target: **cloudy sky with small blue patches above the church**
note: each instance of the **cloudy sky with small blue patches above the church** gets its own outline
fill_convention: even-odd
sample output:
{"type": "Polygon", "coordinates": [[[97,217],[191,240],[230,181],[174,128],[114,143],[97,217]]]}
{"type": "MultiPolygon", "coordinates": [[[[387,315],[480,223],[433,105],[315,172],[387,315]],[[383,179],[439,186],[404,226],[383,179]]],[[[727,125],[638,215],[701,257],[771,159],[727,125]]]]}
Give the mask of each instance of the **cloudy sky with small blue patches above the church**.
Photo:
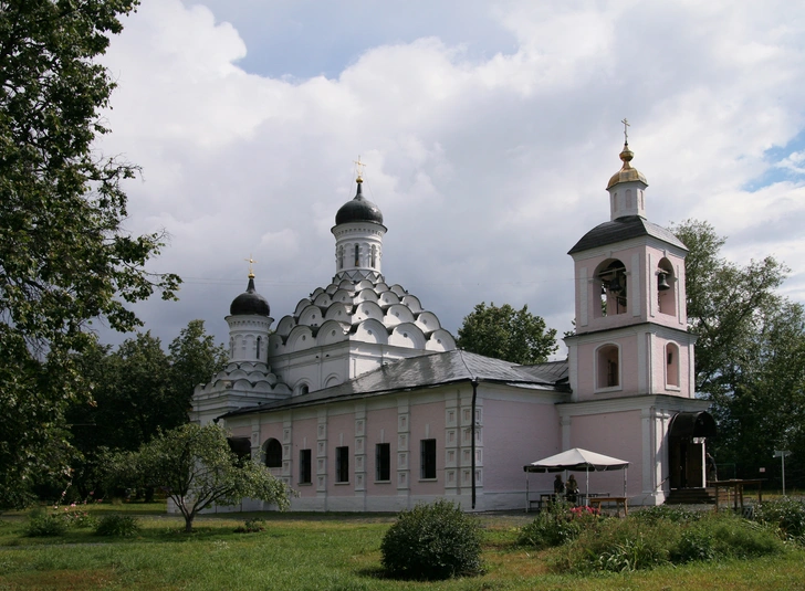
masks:
{"type": "Polygon", "coordinates": [[[135,307],[165,345],[228,341],[250,256],[274,326],[326,287],[358,157],[389,285],[453,334],[485,302],[561,335],[624,118],[648,219],[777,257],[805,303],[805,3],[143,0],[124,27],[96,148],[142,167],[125,230],[168,233],[148,270],[180,299],[135,307]]]}

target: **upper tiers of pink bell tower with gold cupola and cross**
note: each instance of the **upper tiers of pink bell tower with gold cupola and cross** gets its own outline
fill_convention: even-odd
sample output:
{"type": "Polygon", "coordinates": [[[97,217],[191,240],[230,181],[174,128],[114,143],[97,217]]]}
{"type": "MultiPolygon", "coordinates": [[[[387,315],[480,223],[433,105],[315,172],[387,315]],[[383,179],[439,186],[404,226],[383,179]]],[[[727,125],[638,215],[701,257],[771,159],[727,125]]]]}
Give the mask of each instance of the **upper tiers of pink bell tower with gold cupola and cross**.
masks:
{"type": "Polygon", "coordinates": [[[607,183],[610,219],[568,253],[576,279],[576,334],[566,339],[575,401],[693,397],[696,337],[687,331],[684,296],[688,250],[646,219],[648,182],[631,166],[634,157],[626,136],[621,168],[607,183]]]}

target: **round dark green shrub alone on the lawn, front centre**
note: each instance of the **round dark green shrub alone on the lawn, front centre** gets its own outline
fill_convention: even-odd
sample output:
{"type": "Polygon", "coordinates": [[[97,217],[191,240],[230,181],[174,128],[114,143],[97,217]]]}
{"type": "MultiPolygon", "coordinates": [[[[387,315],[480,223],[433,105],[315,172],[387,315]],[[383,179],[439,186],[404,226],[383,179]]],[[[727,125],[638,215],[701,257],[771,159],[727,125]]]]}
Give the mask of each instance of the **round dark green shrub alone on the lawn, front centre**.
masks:
{"type": "Polygon", "coordinates": [[[402,579],[481,572],[481,530],[461,507],[440,499],[399,514],[380,543],[383,568],[402,579]]]}

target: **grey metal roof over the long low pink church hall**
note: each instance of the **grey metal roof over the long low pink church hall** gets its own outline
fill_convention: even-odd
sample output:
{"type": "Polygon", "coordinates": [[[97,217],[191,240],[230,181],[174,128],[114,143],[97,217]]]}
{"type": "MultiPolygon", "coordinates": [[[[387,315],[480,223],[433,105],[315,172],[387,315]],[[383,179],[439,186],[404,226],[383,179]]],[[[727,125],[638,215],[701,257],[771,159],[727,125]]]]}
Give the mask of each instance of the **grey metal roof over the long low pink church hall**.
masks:
{"type": "Polygon", "coordinates": [[[224,416],[271,412],[291,407],[433,388],[472,379],[565,392],[569,391],[563,379],[566,373],[566,361],[544,363],[543,366],[518,366],[510,361],[501,361],[500,359],[456,349],[448,352],[400,359],[332,388],[268,402],[259,407],[240,409],[224,416]]]}

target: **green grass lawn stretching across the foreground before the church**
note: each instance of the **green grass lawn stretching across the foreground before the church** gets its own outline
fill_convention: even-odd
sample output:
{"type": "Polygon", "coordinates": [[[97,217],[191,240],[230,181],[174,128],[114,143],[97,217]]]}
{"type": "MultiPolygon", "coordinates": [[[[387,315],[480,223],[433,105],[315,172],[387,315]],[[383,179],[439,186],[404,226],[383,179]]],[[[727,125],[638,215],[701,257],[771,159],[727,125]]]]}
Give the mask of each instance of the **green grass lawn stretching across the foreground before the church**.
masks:
{"type": "MultiPolygon", "coordinates": [[[[383,578],[380,540],[394,515],[239,514],[202,516],[196,532],[164,506],[93,506],[101,515],[137,515],[133,538],[101,538],[71,529],[56,538],[22,536],[24,515],[0,519],[0,590],[805,590],[805,551],[773,558],[662,567],[629,574],[569,576],[550,571],[551,552],[514,546],[533,516],[481,516],[482,577],[443,582],[383,578]],[[236,534],[259,515],[265,530],[236,534]]],[[[100,516],[100,515],[98,515],[100,516]]]]}

